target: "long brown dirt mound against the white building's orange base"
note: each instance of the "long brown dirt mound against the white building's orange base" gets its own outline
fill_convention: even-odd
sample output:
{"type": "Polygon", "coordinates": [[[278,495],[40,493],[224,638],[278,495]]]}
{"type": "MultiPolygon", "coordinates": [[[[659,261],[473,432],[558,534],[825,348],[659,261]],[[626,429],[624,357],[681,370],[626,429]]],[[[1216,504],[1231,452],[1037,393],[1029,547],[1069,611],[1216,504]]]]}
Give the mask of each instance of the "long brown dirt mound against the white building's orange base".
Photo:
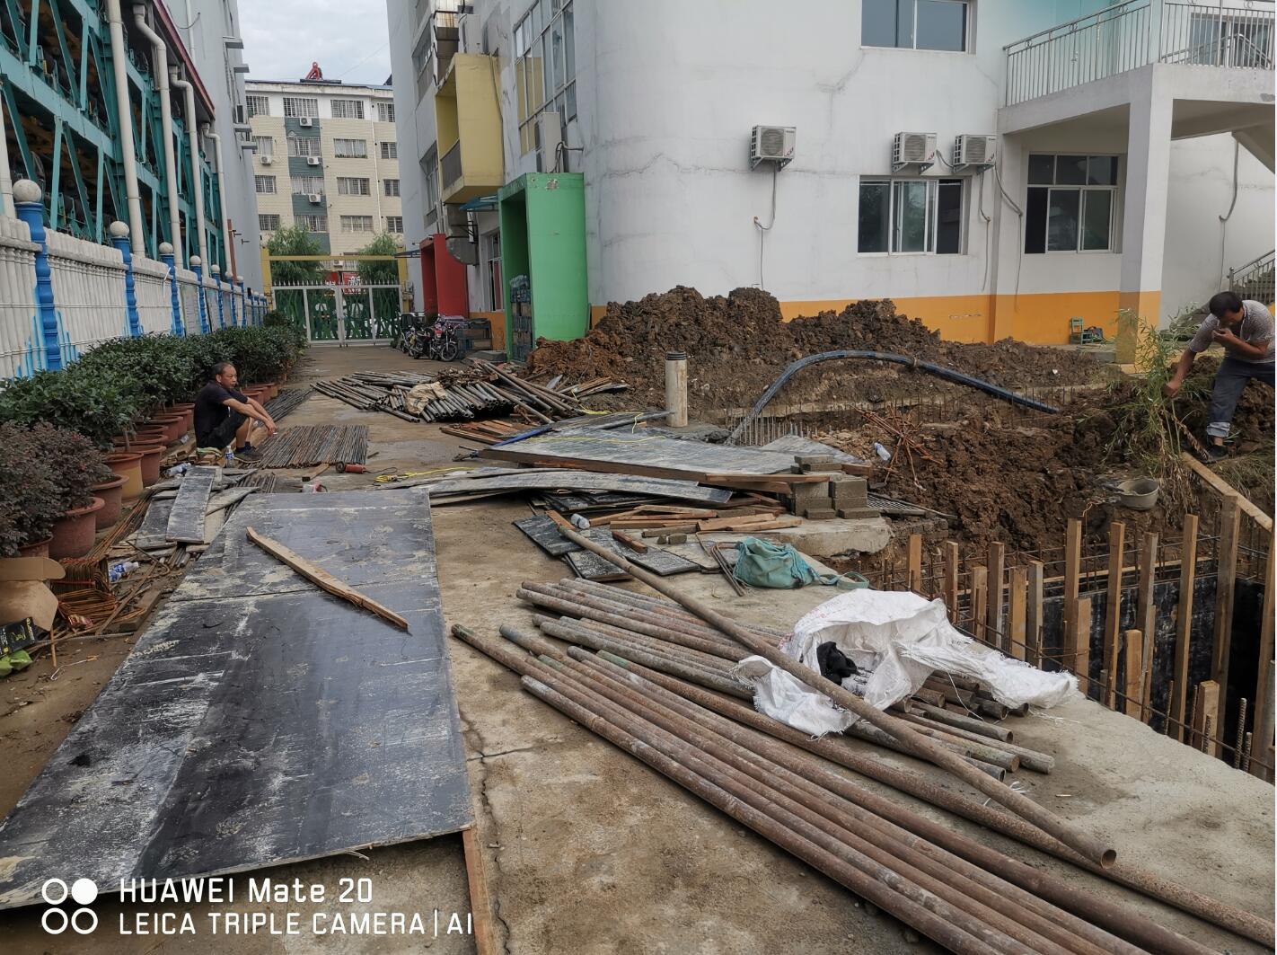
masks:
{"type": "MultiPolygon", "coordinates": [[[[632,386],[628,406],[659,406],[665,352],[686,351],[691,410],[709,416],[752,405],[794,359],[839,349],[908,355],[1016,387],[1082,384],[1098,370],[1092,357],[1073,351],[1011,340],[995,345],[942,341],[919,320],[898,314],[890,299],[866,299],[842,312],[784,322],[775,297],[757,289],[706,299],[684,286],[609,304],[584,338],[540,340],[529,368],[568,380],[619,378],[632,386]]],[[[830,364],[801,373],[778,400],[879,400],[954,387],[896,365],[830,364]]]]}

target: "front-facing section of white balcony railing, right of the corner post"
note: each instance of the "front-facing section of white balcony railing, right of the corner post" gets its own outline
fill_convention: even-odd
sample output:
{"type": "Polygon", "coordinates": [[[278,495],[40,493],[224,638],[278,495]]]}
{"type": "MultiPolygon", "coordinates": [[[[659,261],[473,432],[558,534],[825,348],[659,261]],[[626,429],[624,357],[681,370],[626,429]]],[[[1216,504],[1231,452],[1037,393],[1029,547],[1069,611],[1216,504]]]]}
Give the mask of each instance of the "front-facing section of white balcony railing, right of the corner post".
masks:
{"type": "Polygon", "coordinates": [[[1273,68],[1273,4],[1163,3],[1161,63],[1235,69],[1273,68]]]}

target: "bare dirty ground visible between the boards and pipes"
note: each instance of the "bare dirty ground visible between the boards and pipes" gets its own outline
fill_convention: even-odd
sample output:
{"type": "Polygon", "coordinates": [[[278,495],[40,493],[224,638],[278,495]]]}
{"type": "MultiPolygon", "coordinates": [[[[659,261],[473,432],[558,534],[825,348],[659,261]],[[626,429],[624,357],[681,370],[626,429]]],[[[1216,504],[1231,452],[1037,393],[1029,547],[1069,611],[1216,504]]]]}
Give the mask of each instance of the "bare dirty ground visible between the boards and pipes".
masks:
{"type": "MultiPolygon", "coordinates": [[[[424,365],[386,349],[317,349],[298,379],[356,368],[424,365]]],[[[312,397],[283,424],[324,421],[369,424],[370,444],[378,452],[369,462],[374,469],[453,466],[457,444],[437,426],[355,411],[329,398],[312,397]]],[[[321,480],[335,490],[373,483],[372,475],[328,474],[321,480]]],[[[557,580],[566,568],[511,526],[527,513],[525,503],[502,499],[434,511],[448,627],[462,623],[489,633],[502,623],[530,628],[530,610],[515,600],[515,590],[524,580],[557,580]]],[[[827,596],[807,589],[738,599],[716,576],[684,575],[679,583],[728,613],[779,626],[827,596]]],[[[478,843],[504,951],[894,955],[936,950],[928,942],[907,942],[893,918],[871,913],[840,886],[524,693],[517,677],[502,666],[457,641],[450,640],[448,649],[469,752],[478,843]]],[[[13,806],[125,650],[123,641],[83,645],[63,660],[56,681],[49,681],[49,661],[41,659],[20,677],[0,683],[0,739],[10,757],[10,771],[0,774],[0,811],[13,806]],[[98,659],[92,663],[66,666],[93,655],[98,659]],[[28,697],[31,705],[19,706],[28,697]]],[[[1019,774],[1034,799],[1108,835],[1120,858],[1272,918],[1272,786],[1092,702],[1077,701],[1016,720],[1014,729],[1016,742],[1057,758],[1050,776],[1019,774]]],[[[904,757],[882,758],[931,772],[904,757]]],[[[913,804],[899,794],[893,798],[913,804]]],[[[967,823],[954,825],[976,831],[967,823]]],[[[981,838],[1119,898],[1205,945],[1262,951],[1001,838],[981,838]]],[[[364,855],[289,866],[277,875],[328,886],[344,876],[368,876],[374,880],[375,908],[469,909],[458,839],[364,855]]],[[[106,926],[78,947],[66,936],[51,944],[34,910],[0,913],[0,950],[112,955],[207,950],[203,937],[117,937],[115,917],[129,914],[129,906],[98,905],[98,910],[106,926]]],[[[245,955],[423,946],[472,951],[467,938],[444,936],[427,942],[244,936],[222,940],[218,950],[245,955]]]]}

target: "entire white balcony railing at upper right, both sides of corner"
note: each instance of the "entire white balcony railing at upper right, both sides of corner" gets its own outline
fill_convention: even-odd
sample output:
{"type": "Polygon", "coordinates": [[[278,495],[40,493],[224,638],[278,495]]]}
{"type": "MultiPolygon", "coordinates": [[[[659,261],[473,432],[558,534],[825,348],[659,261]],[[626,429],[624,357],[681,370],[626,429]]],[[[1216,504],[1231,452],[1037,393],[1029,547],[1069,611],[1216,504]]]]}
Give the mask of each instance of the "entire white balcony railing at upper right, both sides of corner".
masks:
{"type": "Polygon", "coordinates": [[[1004,47],[1006,105],[1158,63],[1273,69],[1273,3],[1128,0],[1004,47]],[[1156,36],[1154,36],[1156,32],[1156,36]],[[1156,45],[1154,45],[1156,41],[1156,45]]]}

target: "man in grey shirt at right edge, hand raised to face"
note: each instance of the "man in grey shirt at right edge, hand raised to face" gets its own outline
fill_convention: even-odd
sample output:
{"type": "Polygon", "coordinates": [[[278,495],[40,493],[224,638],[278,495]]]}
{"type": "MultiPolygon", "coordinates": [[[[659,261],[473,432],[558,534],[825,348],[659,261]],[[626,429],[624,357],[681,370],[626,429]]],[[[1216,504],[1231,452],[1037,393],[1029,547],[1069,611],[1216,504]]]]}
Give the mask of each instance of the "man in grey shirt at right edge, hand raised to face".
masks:
{"type": "Polygon", "coordinates": [[[1180,356],[1171,380],[1165,392],[1174,397],[1193,368],[1193,360],[1218,342],[1227,352],[1214,373],[1214,389],[1211,392],[1211,411],[1207,416],[1205,433],[1211,437],[1207,457],[1211,461],[1223,458],[1228,452],[1223,439],[1228,437],[1232,412],[1237,409],[1241,392],[1254,379],[1269,388],[1273,387],[1273,317],[1258,301],[1243,301],[1236,292],[1220,292],[1211,299],[1211,314],[1198,328],[1193,341],[1180,356]]]}

